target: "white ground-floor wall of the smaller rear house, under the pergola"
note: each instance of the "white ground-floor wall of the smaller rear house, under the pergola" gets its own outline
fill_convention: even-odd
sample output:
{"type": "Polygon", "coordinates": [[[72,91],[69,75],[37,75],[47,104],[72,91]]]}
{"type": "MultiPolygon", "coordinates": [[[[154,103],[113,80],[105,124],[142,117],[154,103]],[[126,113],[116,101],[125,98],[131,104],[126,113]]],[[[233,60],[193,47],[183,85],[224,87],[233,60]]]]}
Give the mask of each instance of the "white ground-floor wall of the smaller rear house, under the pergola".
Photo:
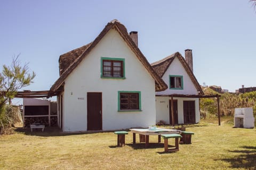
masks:
{"type": "MultiPolygon", "coordinates": [[[[170,124],[170,109],[169,109],[169,100],[170,97],[156,97],[156,122],[161,120],[170,124]]],[[[196,123],[200,120],[200,112],[199,112],[199,99],[198,98],[177,98],[174,97],[173,100],[178,100],[178,123],[184,123],[183,117],[183,101],[194,100],[195,101],[195,118],[196,123]]]]}

